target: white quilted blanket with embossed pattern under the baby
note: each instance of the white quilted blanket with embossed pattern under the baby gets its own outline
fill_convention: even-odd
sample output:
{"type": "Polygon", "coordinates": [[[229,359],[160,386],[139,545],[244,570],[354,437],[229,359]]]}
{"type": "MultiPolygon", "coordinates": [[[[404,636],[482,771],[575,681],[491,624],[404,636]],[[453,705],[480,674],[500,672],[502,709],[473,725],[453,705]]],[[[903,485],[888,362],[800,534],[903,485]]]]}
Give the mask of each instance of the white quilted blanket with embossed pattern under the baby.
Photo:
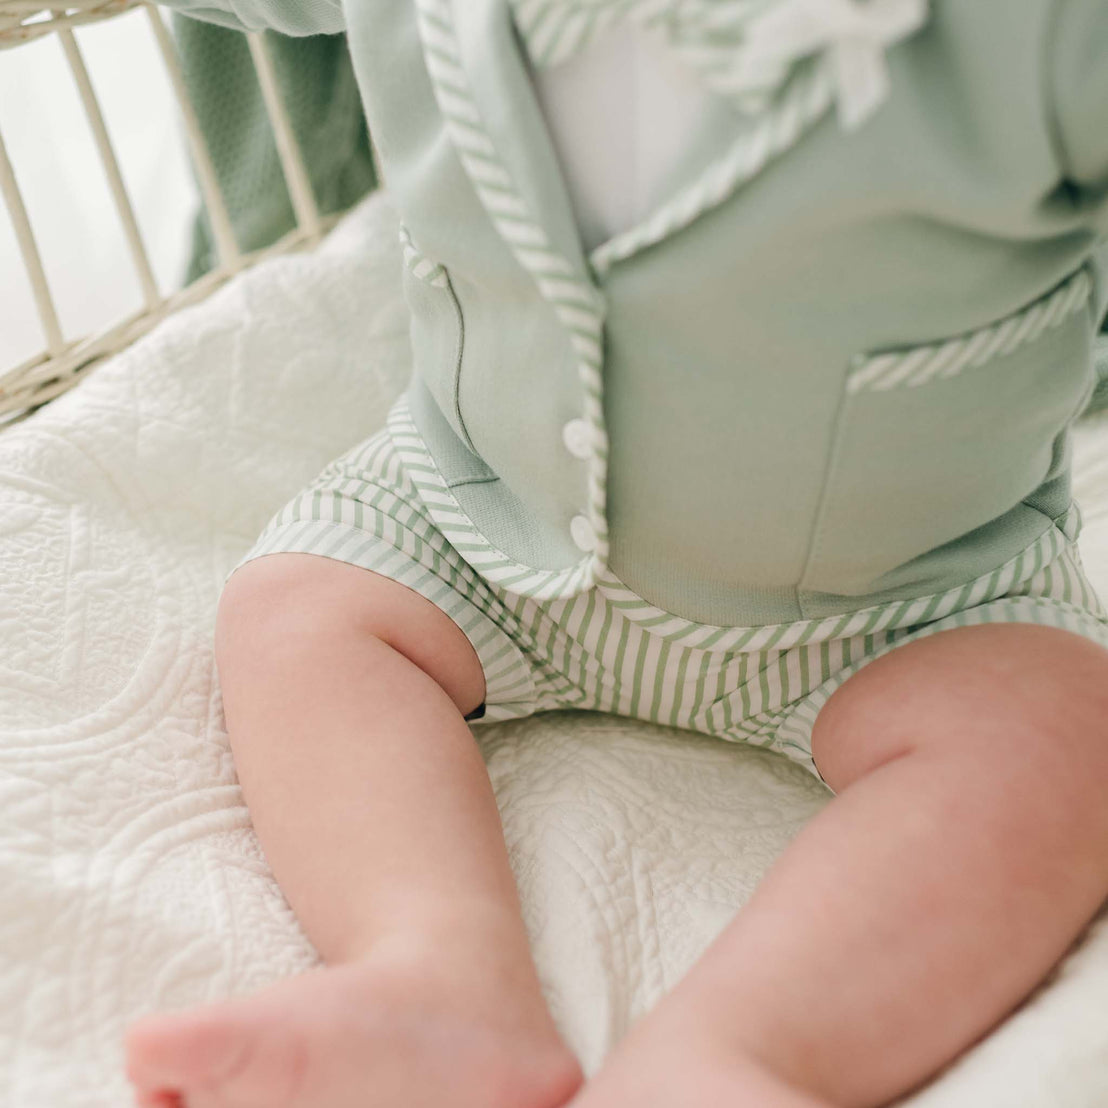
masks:
{"type": "MultiPolygon", "coordinates": [[[[123,1108],[140,1013],[312,963],[243,807],[212,657],[269,514],[406,376],[394,218],[363,204],[0,433],[0,1105],[123,1108]]],[[[1108,593],[1108,423],[1079,437],[1108,593]]],[[[773,755],[584,714],[482,732],[551,1003],[586,1067],[825,796],[773,755]]],[[[915,1108],[1108,1104],[1108,933],[915,1108]]]]}

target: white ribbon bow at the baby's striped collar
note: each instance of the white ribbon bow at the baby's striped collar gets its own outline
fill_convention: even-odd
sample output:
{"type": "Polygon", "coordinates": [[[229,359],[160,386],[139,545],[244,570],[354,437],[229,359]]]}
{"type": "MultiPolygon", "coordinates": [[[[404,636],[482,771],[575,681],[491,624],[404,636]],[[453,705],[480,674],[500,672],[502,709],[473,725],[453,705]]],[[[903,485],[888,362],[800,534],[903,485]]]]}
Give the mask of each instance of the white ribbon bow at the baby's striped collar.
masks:
{"type": "Polygon", "coordinates": [[[743,61],[767,74],[823,53],[839,121],[864,123],[889,94],[885,48],[927,22],[929,0],[781,0],[747,25],[743,61]]]}

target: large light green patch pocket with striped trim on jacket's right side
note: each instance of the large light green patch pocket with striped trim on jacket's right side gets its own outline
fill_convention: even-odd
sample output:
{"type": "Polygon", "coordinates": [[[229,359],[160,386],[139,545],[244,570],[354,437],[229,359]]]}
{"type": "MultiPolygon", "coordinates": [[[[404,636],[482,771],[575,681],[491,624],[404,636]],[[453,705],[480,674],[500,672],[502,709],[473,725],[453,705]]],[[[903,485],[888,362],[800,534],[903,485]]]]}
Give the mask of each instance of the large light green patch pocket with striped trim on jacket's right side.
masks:
{"type": "Polygon", "coordinates": [[[1033,495],[1091,387],[1091,295],[1081,269],[970,334],[854,359],[802,592],[875,592],[1033,495]]]}

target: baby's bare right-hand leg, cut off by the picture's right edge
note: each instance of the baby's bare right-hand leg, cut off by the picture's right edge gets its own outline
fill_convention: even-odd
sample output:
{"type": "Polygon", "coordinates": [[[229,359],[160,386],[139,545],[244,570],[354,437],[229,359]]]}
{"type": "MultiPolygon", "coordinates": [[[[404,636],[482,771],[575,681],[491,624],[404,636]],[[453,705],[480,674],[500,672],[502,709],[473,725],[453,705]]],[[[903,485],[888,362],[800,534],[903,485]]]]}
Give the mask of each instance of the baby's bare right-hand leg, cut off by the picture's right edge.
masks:
{"type": "Polygon", "coordinates": [[[817,722],[839,793],[574,1108],[884,1105],[985,1034],[1108,894],[1108,652],[944,632],[817,722]]]}

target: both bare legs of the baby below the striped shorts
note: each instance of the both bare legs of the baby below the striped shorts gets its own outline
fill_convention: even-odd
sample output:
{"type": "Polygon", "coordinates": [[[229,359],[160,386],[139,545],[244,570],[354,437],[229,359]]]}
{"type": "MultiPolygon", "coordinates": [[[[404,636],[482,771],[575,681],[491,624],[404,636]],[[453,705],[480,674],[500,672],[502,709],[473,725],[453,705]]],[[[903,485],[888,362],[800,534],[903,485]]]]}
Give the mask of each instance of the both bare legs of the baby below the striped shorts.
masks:
{"type": "Polygon", "coordinates": [[[228,583],[217,656],[255,827],[327,968],[132,1028],[143,1108],[876,1108],[1108,894],[1108,652],[1025,625],[920,639],[831,698],[813,750],[838,797],[582,1085],[462,718],[484,679],[461,630],[275,554],[228,583]]]}

